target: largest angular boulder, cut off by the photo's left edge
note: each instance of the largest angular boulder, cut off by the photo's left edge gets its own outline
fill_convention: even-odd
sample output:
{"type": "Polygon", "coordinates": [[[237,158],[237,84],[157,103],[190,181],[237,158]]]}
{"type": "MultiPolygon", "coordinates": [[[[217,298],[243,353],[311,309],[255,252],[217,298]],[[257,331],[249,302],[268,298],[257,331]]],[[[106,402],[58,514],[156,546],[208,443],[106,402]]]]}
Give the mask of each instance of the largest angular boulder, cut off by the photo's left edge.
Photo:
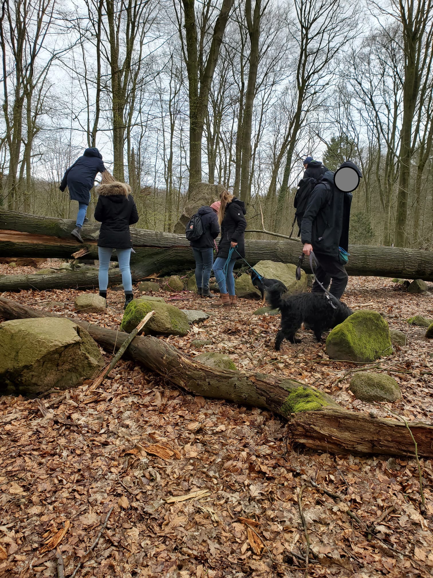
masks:
{"type": "Polygon", "coordinates": [[[57,317],[1,323],[0,351],[0,394],[35,397],[54,387],[76,387],[104,365],[87,331],[57,317]]]}

